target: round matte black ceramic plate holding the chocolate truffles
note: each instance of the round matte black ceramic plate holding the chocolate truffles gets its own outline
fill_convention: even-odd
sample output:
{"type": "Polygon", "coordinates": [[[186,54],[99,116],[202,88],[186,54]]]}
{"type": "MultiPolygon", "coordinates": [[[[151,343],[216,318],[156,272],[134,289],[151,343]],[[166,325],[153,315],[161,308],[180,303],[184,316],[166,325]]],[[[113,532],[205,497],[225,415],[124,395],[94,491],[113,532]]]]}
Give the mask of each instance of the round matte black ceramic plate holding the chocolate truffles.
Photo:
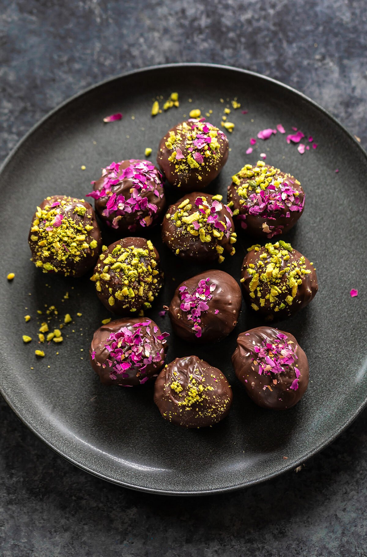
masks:
{"type": "MultiPolygon", "coordinates": [[[[60,455],[127,487],[204,494],[234,490],[294,468],[343,431],[366,403],[366,175],[366,154],[332,116],[289,87],[251,72],[210,65],[161,66],[117,77],[73,97],[29,132],[1,171],[4,398],[60,455]],[[153,97],[167,99],[172,91],[178,91],[180,107],[152,118],[153,97]],[[220,124],[227,99],[234,97],[241,109],[229,115],[235,123],[229,134],[230,157],[209,192],[225,194],[231,175],[246,162],[256,163],[261,152],[267,162],[304,185],[304,215],[286,239],[314,261],[320,289],[306,309],[278,326],[294,334],[306,351],[310,385],[301,402],[285,412],[265,411],[247,398],[235,379],[231,354],[237,334],[260,323],[243,307],[235,331],[219,344],[191,348],[170,339],[167,361],[197,354],[226,374],[234,392],[223,422],[186,431],[161,418],[152,400],[153,385],[122,389],[99,383],[87,354],[93,331],[108,317],[107,311],[88,276],[66,280],[39,272],[29,261],[27,234],[34,207],[44,197],[83,197],[103,165],[142,158],[146,147],[153,149],[155,160],[161,136],[191,109],[204,114],[212,110],[209,120],[220,124]],[[104,116],[118,111],[121,121],[103,124],[104,116]],[[318,148],[300,155],[278,133],[258,140],[254,152],[245,154],[251,137],[279,123],[287,133],[296,126],[312,135],[318,148]],[[6,280],[10,271],[16,273],[12,283],[6,280]],[[352,287],[359,289],[354,299],[349,295],[352,287]],[[66,292],[68,299],[63,298],[66,292]],[[62,318],[70,312],[75,324],[64,329],[62,344],[46,346],[46,357],[36,360],[37,319],[43,320],[45,304],[56,306],[62,318]],[[29,323],[24,323],[26,314],[32,316],[29,323]],[[32,336],[32,343],[23,344],[23,334],[32,336]]],[[[104,240],[110,239],[105,235],[104,240]]],[[[205,267],[190,268],[168,253],[159,231],[152,241],[161,252],[166,282],[150,316],[170,331],[168,316],[160,317],[158,311],[169,304],[178,282],[205,267]]],[[[241,236],[235,257],[227,257],[221,266],[237,280],[251,243],[241,236]]]]}

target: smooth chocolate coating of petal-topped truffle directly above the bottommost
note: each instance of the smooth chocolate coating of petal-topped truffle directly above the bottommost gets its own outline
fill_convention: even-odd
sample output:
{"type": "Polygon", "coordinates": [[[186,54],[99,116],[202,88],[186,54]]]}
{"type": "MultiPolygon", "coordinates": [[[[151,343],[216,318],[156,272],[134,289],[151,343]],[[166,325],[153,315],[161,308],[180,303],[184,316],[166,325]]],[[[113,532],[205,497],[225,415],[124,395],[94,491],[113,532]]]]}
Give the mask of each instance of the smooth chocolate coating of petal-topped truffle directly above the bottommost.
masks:
{"type": "Polygon", "coordinates": [[[171,319],[172,329],[176,335],[191,343],[203,344],[224,339],[237,325],[241,311],[241,289],[239,284],[228,273],[212,269],[188,278],[181,282],[172,298],[168,315],[171,319]],[[201,336],[196,336],[193,330],[194,321],[187,316],[190,311],[180,309],[182,304],[180,287],[186,286],[189,294],[195,292],[199,281],[210,278],[209,284],[215,284],[211,292],[211,299],[206,303],[209,309],[200,315],[201,336]],[[216,314],[215,311],[219,310],[216,314]]]}

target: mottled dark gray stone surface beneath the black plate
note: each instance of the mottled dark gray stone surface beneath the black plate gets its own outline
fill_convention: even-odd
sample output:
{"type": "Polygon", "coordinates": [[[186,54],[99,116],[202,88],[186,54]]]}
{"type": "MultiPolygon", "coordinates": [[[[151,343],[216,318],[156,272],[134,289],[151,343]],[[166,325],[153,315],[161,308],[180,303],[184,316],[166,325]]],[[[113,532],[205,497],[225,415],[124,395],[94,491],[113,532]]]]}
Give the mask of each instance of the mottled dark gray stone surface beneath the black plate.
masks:
{"type": "MultiPolygon", "coordinates": [[[[0,160],[88,85],[182,61],[279,79],[366,145],[366,18],[364,0],[2,0],[0,160]]],[[[299,473],[234,494],[178,499],[87,475],[0,405],[2,557],[367,555],[366,412],[299,473]]]]}

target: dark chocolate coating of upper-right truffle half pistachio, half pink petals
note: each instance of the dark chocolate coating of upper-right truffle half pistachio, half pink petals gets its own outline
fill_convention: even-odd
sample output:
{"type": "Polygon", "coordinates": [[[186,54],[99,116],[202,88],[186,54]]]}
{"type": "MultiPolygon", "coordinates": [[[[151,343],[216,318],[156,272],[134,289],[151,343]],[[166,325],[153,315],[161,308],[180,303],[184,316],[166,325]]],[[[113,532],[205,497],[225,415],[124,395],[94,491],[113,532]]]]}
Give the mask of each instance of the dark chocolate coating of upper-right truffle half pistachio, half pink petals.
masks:
{"type": "MultiPolygon", "coordinates": [[[[232,211],[239,211],[239,216],[234,217],[234,221],[240,221],[241,226],[245,228],[247,233],[251,234],[252,236],[272,238],[274,236],[278,236],[280,234],[288,232],[295,225],[302,212],[304,211],[305,192],[299,181],[296,180],[291,174],[282,172],[281,170],[275,169],[270,165],[264,165],[262,168],[275,170],[276,173],[274,174],[274,179],[281,182],[281,184],[287,184],[290,188],[299,193],[299,195],[295,198],[299,200],[297,204],[290,203],[289,198],[287,198],[286,201],[282,199],[281,201],[279,201],[278,199],[277,209],[269,210],[269,207],[274,207],[274,201],[276,201],[276,198],[281,197],[280,188],[282,187],[282,185],[280,185],[280,187],[278,187],[277,189],[269,190],[268,188],[266,188],[264,190],[264,194],[266,198],[269,198],[266,201],[266,207],[263,208],[259,214],[252,213],[252,211],[255,211],[256,208],[259,207],[258,196],[255,197],[253,195],[255,193],[256,187],[254,187],[252,191],[246,189],[247,197],[240,196],[238,192],[239,189],[245,188],[246,185],[248,186],[249,182],[253,182],[254,177],[241,178],[240,174],[242,171],[240,171],[240,173],[235,176],[237,177],[237,179],[240,180],[240,183],[235,184],[234,182],[232,182],[228,187],[228,202],[233,202],[233,206],[231,206],[232,211]],[[245,203],[240,204],[240,200],[245,201],[245,203]],[[299,206],[301,210],[291,211],[287,203],[291,204],[292,207],[299,206]],[[245,219],[244,216],[246,217],[245,219]]],[[[271,184],[273,182],[274,180],[272,180],[271,184]]],[[[271,185],[271,187],[274,187],[274,185],[271,185]]],[[[260,190],[260,188],[258,189],[260,190]]],[[[261,202],[263,202],[262,199],[261,202]]]]}

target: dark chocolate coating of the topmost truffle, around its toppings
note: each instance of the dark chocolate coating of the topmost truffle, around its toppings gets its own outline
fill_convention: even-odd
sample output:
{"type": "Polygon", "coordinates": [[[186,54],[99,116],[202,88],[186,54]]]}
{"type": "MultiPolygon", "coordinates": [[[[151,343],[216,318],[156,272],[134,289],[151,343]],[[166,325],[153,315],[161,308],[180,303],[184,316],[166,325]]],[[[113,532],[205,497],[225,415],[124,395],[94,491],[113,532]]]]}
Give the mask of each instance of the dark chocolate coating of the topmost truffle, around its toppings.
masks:
{"type": "MultiPolygon", "coordinates": [[[[162,172],[165,174],[167,182],[170,185],[180,188],[182,192],[193,192],[196,189],[206,188],[206,186],[210,184],[210,182],[212,182],[212,180],[214,180],[220,173],[228,158],[228,139],[223,131],[208,122],[198,123],[199,120],[191,119],[191,121],[187,120],[177,124],[161,139],[158,148],[157,163],[162,169],[162,172]],[[192,136],[193,125],[206,125],[211,131],[214,130],[217,132],[216,139],[219,144],[219,149],[215,150],[210,157],[205,156],[206,151],[211,153],[210,146],[208,146],[208,144],[203,146],[201,149],[198,149],[193,144],[192,140],[195,140],[192,136]],[[176,136],[176,141],[172,144],[172,146],[170,146],[169,143],[171,133],[174,133],[176,136]],[[166,145],[167,141],[168,146],[166,145]],[[168,158],[172,157],[172,153],[176,152],[177,147],[181,149],[183,158],[174,158],[174,160],[171,161],[168,160],[168,158]],[[191,148],[192,151],[190,152],[188,149],[191,148]],[[188,157],[190,159],[196,152],[202,155],[203,162],[199,163],[199,168],[192,168],[188,157]]],[[[200,133],[200,130],[198,130],[198,133],[200,133]]],[[[205,135],[207,135],[207,133],[205,135]]],[[[191,164],[195,164],[192,163],[192,159],[191,164]]]]}

